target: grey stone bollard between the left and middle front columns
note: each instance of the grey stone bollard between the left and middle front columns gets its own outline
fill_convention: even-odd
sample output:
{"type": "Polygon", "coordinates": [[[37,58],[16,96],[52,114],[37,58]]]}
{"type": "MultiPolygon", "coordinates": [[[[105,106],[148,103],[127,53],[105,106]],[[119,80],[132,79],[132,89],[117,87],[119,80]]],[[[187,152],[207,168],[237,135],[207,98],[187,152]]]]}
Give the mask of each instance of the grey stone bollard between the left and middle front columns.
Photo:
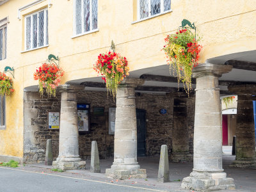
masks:
{"type": "Polygon", "coordinates": [[[92,173],[100,173],[100,159],[99,151],[97,147],[97,142],[92,141],[92,151],[91,151],[91,168],[92,173]]]}

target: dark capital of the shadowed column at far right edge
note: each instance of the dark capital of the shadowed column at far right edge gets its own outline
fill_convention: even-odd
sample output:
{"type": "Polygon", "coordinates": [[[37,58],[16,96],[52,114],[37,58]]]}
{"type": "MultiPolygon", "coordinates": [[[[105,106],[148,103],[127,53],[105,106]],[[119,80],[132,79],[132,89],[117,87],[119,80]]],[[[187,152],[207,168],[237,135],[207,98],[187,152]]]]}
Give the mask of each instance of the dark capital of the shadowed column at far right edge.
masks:
{"type": "Polygon", "coordinates": [[[232,84],[228,86],[228,91],[237,95],[256,95],[256,83],[232,84]]]}

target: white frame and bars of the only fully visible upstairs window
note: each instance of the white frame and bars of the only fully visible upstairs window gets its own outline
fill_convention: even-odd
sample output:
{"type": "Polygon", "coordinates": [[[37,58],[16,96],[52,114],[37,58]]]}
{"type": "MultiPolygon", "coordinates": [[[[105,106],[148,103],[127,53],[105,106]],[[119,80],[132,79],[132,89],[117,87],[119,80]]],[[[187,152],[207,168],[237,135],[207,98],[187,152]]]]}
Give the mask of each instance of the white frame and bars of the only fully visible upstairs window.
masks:
{"type": "Polygon", "coordinates": [[[26,15],[25,17],[24,17],[24,33],[25,33],[25,35],[24,35],[24,51],[31,51],[31,50],[35,50],[35,49],[39,49],[39,48],[42,48],[42,47],[46,47],[46,46],[48,46],[49,45],[49,33],[48,33],[48,31],[46,31],[46,28],[47,28],[47,26],[46,26],[46,23],[48,23],[48,30],[49,30],[49,12],[48,12],[48,21],[46,21],[46,11],[48,10],[48,8],[44,8],[44,9],[42,9],[42,10],[39,10],[39,11],[37,11],[37,12],[33,12],[33,13],[31,13],[31,14],[29,14],[29,15],[26,15]],[[38,35],[38,33],[39,33],[39,30],[38,30],[38,28],[39,28],[39,19],[38,19],[38,17],[39,17],[39,13],[40,12],[44,12],[44,44],[43,45],[41,45],[41,46],[39,46],[39,35],[38,35]],[[36,28],[36,31],[37,31],[37,46],[35,47],[35,48],[33,48],[33,15],[37,15],[37,28],[36,28]],[[31,17],[31,24],[30,24],[30,36],[31,36],[31,38],[30,38],[30,48],[29,49],[27,49],[27,22],[26,22],[26,20],[27,20],[27,18],[28,17],[31,17]],[[46,44],[46,36],[48,37],[48,44],[46,44]]]}

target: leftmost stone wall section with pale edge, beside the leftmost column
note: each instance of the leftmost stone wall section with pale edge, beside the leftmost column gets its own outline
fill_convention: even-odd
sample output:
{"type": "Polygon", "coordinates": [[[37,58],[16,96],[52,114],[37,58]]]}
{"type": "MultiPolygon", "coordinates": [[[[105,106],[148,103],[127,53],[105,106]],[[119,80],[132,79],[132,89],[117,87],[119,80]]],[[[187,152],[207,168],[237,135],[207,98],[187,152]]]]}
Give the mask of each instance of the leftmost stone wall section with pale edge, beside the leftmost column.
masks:
{"type": "Polygon", "coordinates": [[[24,92],[24,163],[44,161],[47,139],[52,139],[53,156],[58,156],[59,130],[47,129],[50,110],[60,111],[60,94],[48,98],[37,92],[24,92]]]}

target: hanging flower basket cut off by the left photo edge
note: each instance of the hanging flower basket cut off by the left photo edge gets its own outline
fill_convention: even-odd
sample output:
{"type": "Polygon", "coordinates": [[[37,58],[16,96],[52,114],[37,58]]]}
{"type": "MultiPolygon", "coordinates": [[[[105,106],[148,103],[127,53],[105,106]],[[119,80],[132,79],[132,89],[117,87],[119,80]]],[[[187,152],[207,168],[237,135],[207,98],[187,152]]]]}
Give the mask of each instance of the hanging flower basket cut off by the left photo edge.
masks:
{"type": "Polygon", "coordinates": [[[12,78],[0,72],[0,94],[8,96],[12,92],[14,92],[12,78]]]}

